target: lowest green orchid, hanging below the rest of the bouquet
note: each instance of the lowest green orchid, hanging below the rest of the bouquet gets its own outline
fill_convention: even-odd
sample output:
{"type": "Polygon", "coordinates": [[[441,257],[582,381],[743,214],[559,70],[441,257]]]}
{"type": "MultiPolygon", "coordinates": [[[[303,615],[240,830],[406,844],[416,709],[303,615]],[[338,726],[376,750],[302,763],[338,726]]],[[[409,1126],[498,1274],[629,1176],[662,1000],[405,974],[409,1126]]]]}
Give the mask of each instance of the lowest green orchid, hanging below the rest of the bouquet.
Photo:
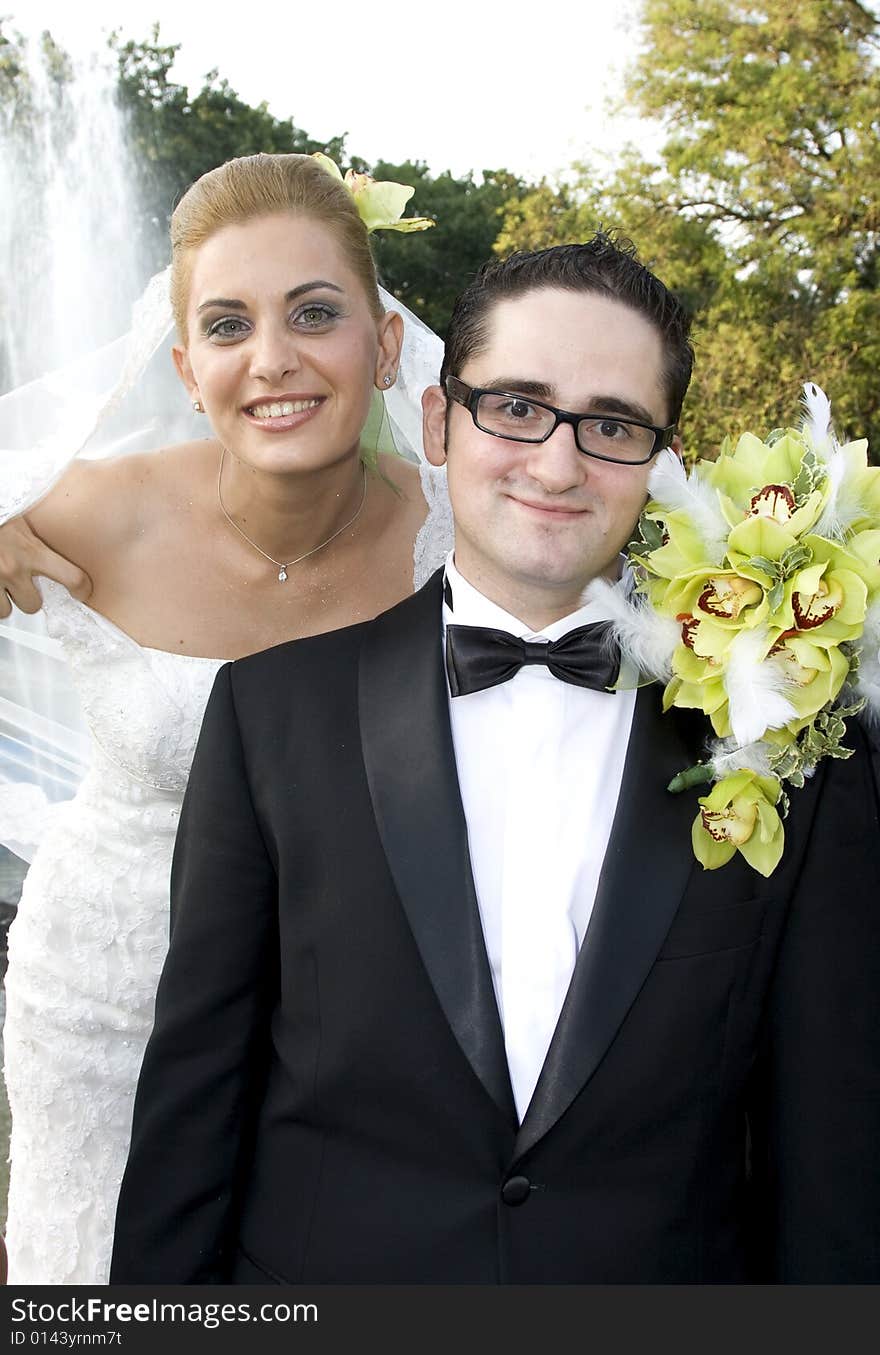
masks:
{"type": "Polygon", "coordinates": [[[698,799],[692,841],[704,870],[717,870],[739,851],[753,870],[770,875],[780,863],[785,833],[776,809],[781,794],[776,776],[732,772],[698,799]]]}

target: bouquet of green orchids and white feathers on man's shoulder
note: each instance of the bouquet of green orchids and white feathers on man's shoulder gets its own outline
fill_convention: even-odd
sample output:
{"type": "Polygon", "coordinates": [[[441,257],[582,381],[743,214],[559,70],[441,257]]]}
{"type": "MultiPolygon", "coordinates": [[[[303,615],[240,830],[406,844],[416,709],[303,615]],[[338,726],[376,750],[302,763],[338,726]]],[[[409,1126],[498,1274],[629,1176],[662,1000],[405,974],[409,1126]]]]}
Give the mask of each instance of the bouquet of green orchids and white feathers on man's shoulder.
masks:
{"type": "Polygon", "coordinates": [[[670,785],[712,783],[692,833],[706,870],[739,851],[769,875],[784,786],[850,756],[847,717],[880,717],[880,467],[864,439],[837,442],[818,386],[804,404],[800,430],[728,439],[690,476],[662,453],[629,549],[635,588],[614,603],[624,653],[666,683],[663,709],[712,726],[705,762],[670,785]]]}

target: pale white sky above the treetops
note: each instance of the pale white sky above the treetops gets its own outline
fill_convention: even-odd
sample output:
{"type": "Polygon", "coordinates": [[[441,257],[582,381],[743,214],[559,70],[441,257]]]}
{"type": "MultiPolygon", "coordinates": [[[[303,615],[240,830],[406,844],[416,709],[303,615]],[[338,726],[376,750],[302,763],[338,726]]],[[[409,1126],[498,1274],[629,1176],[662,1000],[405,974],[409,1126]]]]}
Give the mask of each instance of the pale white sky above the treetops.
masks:
{"type": "Polygon", "coordinates": [[[9,27],[49,28],[77,53],[114,27],[180,43],[172,76],[195,92],[217,68],[316,140],[347,133],[365,160],[423,160],[434,173],[510,169],[553,178],[651,129],[612,118],[637,47],[639,0],[7,0],[9,27]]]}

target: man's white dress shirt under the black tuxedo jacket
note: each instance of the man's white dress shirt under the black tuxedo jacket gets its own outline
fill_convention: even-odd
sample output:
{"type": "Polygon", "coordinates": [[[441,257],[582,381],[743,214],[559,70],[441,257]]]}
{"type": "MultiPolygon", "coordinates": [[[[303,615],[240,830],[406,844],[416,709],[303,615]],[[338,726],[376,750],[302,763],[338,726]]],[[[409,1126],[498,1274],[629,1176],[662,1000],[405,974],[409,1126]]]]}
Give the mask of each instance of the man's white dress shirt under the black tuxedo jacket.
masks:
{"type": "MultiPolygon", "coordinates": [[[[446,579],[443,644],[447,625],[552,641],[607,619],[586,606],[533,631],[462,579],[452,553],[446,579]]],[[[593,912],[635,699],[635,690],[561,682],[542,664],[449,698],[480,920],[521,1121],[593,912]]]]}

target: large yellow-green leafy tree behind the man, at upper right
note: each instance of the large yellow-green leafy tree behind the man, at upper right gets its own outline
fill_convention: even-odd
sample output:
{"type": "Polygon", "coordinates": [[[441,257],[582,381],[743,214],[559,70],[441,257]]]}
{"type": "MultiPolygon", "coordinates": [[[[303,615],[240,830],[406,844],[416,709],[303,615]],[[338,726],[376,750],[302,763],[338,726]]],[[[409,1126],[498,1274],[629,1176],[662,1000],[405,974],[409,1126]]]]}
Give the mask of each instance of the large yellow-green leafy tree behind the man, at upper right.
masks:
{"type": "Polygon", "coordinates": [[[694,450],[793,423],[809,378],[877,455],[876,15],[858,0],[645,0],[643,23],[626,99],[663,123],[659,163],[631,149],[601,187],[579,167],[567,205],[511,205],[499,247],[598,221],[633,237],[694,316],[694,450]]]}

